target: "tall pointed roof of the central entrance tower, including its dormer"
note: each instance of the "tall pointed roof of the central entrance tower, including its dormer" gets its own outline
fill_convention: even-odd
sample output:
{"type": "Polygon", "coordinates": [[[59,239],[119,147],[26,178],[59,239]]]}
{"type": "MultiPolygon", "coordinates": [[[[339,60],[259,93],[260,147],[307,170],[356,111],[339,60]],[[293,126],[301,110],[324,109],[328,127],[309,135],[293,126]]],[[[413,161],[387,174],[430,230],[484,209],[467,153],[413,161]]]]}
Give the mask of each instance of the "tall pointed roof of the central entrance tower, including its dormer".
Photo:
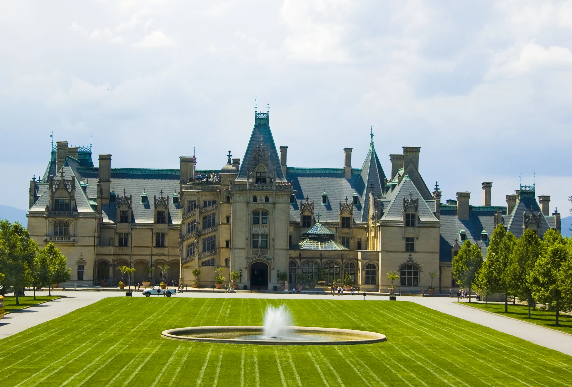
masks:
{"type": "Polygon", "coordinates": [[[236,178],[237,181],[244,182],[249,178],[256,177],[257,174],[260,174],[261,182],[266,184],[271,183],[268,178],[275,179],[277,183],[287,181],[280,166],[280,158],[268,125],[268,110],[267,108],[267,112],[260,113],[255,108],[255,124],[247,151],[244,154],[243,164],[240,166],[239,175],[236,178]],[[254,175],[252,175],[253,172],[254,175]],[[262,179],[263,176],[264,180],[262,179]]]}

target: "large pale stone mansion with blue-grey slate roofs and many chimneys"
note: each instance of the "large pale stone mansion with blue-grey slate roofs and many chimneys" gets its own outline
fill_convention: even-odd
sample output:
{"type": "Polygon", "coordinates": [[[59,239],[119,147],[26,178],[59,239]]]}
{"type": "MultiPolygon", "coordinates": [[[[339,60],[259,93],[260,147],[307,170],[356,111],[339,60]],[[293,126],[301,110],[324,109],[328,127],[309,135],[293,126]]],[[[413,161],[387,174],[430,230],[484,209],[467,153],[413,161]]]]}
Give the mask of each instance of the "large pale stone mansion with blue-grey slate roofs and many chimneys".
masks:
{"type": "Polygon", "coordinates": [[[197,170],[193,157],[181,157],[178,170],[112,168],[109,154],[95,167],[91,147],[57,142],[43,176],[30,181],[31,236],[61,249],[74,283],[115,285],[117,267],[127,265],[136,282],[153,267],[153,280],[187,286],[200,268],[201,286],[212,286],[221,267],[226,283],[240,273],[240,288],[272,289],[279,272],[306,284],[349,273],[353,284],[377,291],[397,271],[395,285],[406,292],[430,286],[431,272],[448,292],[464,240],[484,256],[501,223],[517,237],[524,228],[560,231],[550,196],[537,201],[534,186],[506,195],[501,207],[491,206],[490,182],[482,183],[482,205],[470,205],[470,192],[442,203],[438,185],[431,192],[420,175],[420,147],[390,155],[386,175],[373,134],[361,168],[352,168],[352,148],[344,148],[341,168],[288,167],[288,147],[279,156],[268,115],[255,111],[244,158],[229,152],[220,170],[197,170]]]}

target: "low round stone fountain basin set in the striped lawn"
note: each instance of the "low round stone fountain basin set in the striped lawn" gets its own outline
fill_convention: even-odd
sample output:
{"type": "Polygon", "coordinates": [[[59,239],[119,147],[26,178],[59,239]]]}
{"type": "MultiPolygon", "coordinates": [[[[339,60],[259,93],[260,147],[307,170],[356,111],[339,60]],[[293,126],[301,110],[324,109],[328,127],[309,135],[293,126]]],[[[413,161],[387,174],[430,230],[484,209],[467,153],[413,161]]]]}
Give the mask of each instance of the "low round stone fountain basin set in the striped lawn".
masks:
{"type": "Polygon", "coordinates": [[[366,330],[287,326],[283,337],[265,336],[264,326],[190,326],[164,330],[161,336],[171,340],[220,342],[256,345],[350,345],[385,341],[381,333],[366,330]]]}

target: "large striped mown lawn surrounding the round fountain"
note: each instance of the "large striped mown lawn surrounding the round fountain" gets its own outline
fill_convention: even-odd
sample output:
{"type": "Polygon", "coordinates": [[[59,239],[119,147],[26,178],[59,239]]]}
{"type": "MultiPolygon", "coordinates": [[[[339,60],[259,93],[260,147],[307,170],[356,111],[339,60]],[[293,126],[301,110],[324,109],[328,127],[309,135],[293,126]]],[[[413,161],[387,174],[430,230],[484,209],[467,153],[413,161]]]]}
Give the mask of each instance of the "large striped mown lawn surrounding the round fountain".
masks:
{"type": "Polygon", "coordinates": [[[572,357],[405,301],[111,297],[0,340],[1,386],[569,386],[572,357]],[[387,341],[258,346],[166,340],[164,329],[297,325],[387,341]]]}

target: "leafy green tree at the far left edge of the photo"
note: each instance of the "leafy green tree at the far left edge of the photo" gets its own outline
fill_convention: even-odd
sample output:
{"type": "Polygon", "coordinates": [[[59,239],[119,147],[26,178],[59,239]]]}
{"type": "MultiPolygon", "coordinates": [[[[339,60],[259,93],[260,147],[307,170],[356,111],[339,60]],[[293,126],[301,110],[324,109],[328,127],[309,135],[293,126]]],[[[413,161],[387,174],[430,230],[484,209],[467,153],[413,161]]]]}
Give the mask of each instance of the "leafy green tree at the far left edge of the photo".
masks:
{"type": "Polygon", "coordinates": [[[38,244],[17,221],[0,220],[0,265],[4,287],[11,287],[19,305],[19,293],[26,287],[26,272],[38,253],[38,244]]]}

